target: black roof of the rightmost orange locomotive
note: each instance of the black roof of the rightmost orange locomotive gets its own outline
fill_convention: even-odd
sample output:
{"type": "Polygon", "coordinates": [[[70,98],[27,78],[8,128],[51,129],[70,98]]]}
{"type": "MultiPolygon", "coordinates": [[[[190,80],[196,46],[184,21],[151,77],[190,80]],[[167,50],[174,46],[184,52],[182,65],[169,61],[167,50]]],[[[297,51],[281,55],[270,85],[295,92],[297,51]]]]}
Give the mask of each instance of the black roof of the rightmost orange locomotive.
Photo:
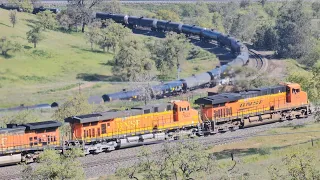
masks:
{"type": "Polygon", "coordinates": [[[286,92],[286,86],[279,85],[279,86],[272,86],[272,87],[250,89],[250,90],[236,92],[236,93],[222,93],[222,94],[212,95],[204,98],[199,98],[195,101],[195,104],[217,105],[217,104],[224,104],[227,102],[238,101],[239,99],[252,98],[252,97],[263,96],[268,94],[277,94],[281,92],[286,92]]]}

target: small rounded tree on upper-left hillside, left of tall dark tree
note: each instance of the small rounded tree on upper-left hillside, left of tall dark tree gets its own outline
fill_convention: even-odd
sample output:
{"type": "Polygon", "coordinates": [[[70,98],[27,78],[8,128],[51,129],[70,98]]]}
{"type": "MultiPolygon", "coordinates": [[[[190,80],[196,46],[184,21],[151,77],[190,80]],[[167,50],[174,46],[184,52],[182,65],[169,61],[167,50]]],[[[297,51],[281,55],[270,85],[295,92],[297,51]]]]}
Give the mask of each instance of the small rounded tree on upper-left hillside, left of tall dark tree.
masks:
{"type": "Polygon", "coordinates": [[[54,29],[57,25],[56,15],[49,10],[37,13],[37,19],[44,30],[54,29]]]}

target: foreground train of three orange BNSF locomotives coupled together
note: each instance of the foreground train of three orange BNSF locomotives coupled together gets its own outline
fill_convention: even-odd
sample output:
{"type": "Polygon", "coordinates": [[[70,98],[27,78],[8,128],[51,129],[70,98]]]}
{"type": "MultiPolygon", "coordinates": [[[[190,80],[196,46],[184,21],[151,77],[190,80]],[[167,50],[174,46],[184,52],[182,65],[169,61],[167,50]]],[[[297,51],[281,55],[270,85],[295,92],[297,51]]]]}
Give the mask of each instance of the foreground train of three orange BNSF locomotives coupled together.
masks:
{"type": "Polygon", "coordinates": [[[202,136],[266,123],[306,118],[311,114],[307,93],[299,84],[284,83],[236,93],[171,101],[77,115],[65,119],[70,136],[59,136],[61,123],[46,121],[0,129],[0,164],[32,162],[46,148],[82,147],[85,154],[113,151],[143,143],[202,136]],[[65,141],[61,141],[65,139],[65,141]]]}

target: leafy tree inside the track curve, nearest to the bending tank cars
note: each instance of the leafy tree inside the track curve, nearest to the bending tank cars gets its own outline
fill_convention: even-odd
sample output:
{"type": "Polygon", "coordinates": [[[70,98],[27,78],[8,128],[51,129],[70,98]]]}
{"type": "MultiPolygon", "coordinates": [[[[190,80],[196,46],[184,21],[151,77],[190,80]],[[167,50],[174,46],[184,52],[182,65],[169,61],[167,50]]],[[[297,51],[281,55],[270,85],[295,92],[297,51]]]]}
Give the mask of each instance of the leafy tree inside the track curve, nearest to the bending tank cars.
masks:
{"type": "Polygon", "coordinates": [[[172,76],[190,51],[189,40],[183,34],[168,33],[165,39],[155,42],[152,52],[156,67],[163,75],[172,76]]]}

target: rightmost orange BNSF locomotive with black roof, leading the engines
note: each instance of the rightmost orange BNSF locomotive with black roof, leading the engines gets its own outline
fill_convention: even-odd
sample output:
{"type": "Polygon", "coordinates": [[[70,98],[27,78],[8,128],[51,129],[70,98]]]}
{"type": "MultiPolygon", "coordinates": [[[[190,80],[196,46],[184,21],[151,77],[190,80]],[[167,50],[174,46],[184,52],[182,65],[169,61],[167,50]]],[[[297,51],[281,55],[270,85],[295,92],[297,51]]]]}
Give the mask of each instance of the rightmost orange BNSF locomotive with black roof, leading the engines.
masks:
{"type": "Polygon", "coordinates": [[[299,84],[223,93],[196,100],[205,129],[216,133],[280,120],[307,117],[310,105],[299,84]]]}

